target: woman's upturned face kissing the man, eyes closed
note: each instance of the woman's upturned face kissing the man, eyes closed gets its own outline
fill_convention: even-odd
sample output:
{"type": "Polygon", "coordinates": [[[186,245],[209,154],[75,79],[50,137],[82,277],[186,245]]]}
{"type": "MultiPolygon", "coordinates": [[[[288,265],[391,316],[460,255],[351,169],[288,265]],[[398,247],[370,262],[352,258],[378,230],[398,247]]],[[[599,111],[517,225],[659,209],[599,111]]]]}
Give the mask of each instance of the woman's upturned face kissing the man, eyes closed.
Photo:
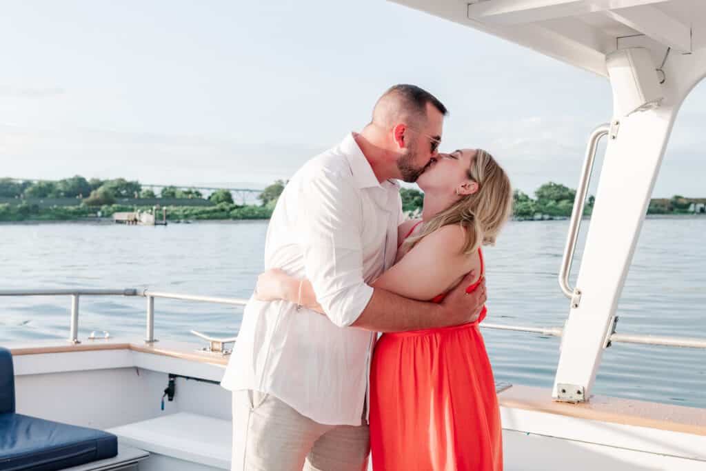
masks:
{"type": "Polygon", "coordinates": [[[419,188],[423,191],[437,193],[467,193],[468,169],[476,155],[475,149],[454,150],[450,154],[438,154],[436,162],[431,162],[423,174],[417,179],[419,188]]]}

